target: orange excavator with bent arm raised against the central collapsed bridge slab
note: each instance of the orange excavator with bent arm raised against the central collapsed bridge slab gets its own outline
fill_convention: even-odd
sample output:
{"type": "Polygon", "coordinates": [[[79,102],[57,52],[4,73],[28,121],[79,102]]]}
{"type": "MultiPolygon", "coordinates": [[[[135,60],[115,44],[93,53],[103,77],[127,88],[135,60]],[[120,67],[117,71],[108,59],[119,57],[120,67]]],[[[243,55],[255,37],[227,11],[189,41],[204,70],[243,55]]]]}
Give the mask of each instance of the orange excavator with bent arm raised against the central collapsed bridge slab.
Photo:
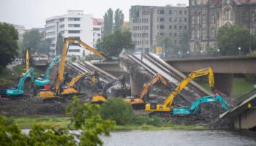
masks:
{"type": "Polygon", "coordinates": [[[152,85],[154,85],[157,82],[161,82],[163,85],[168,85],[168,82],[162,77],[162,75],[157,73],[156,76],[154,76],[151,80],[149,80],[146,84],[143,85],[143,89],[140,92],[139,97],[135,97],[135,98],[127,97],[126,99],[124,99],[124,101],[132,104],[132,107],[134,108],[145,107],[145,102],[143,101],[143,98],[146,96],[146,93],[148,93],[148,88],[150,88],[152,85]]]}

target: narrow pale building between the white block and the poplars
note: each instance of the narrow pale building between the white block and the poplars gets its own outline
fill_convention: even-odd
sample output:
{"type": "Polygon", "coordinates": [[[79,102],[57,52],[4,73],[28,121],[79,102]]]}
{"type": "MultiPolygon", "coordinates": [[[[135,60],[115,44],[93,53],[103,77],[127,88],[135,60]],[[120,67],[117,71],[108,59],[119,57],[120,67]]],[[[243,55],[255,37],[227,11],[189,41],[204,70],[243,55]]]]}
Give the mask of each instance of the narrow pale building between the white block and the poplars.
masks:
{"type": "Polygon", "coordinates": [[[93,47],[96,47],[97,41],[102,39],[104,20],[102,18],[94,18],[93,23],[93,47]]]}

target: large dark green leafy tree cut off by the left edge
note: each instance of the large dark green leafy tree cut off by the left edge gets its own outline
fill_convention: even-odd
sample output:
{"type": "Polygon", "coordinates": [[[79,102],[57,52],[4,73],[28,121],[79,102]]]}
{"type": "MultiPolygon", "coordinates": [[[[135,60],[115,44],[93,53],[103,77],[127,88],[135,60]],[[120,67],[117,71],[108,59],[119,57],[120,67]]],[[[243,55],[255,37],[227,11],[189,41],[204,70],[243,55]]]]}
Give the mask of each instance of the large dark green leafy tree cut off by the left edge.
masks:
{"type": "Polygon", "coordinates": [[[8,23],[0,23],[0,71],[18,55],[18,31],[8,23]]]}

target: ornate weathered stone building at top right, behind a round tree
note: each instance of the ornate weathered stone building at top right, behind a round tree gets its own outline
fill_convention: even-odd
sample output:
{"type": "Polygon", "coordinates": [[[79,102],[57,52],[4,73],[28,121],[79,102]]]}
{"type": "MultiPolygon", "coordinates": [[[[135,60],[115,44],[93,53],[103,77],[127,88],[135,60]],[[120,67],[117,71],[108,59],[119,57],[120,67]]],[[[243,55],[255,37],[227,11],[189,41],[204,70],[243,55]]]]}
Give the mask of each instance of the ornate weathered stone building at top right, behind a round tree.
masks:
{"type": "Polygon", "coordinates": [[[239,24],[256,31],[256,1],[189,0],[189,50],[192,54],[218,49],[217,31],[225,24],[239,24]]]}

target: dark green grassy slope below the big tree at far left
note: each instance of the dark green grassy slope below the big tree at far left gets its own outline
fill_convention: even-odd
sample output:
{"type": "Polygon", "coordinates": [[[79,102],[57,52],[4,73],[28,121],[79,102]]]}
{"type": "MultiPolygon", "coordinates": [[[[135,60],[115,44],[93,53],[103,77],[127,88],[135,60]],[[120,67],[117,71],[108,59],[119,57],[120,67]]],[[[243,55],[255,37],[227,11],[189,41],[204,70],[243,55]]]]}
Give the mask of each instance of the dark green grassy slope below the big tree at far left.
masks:
{"type": "Polygon", "coordinates": [[[15,85],[16,77],[12,75],[12,72],[10,72],[7,69],[2,69],[0,72],[0,85],[15,85]]]}

